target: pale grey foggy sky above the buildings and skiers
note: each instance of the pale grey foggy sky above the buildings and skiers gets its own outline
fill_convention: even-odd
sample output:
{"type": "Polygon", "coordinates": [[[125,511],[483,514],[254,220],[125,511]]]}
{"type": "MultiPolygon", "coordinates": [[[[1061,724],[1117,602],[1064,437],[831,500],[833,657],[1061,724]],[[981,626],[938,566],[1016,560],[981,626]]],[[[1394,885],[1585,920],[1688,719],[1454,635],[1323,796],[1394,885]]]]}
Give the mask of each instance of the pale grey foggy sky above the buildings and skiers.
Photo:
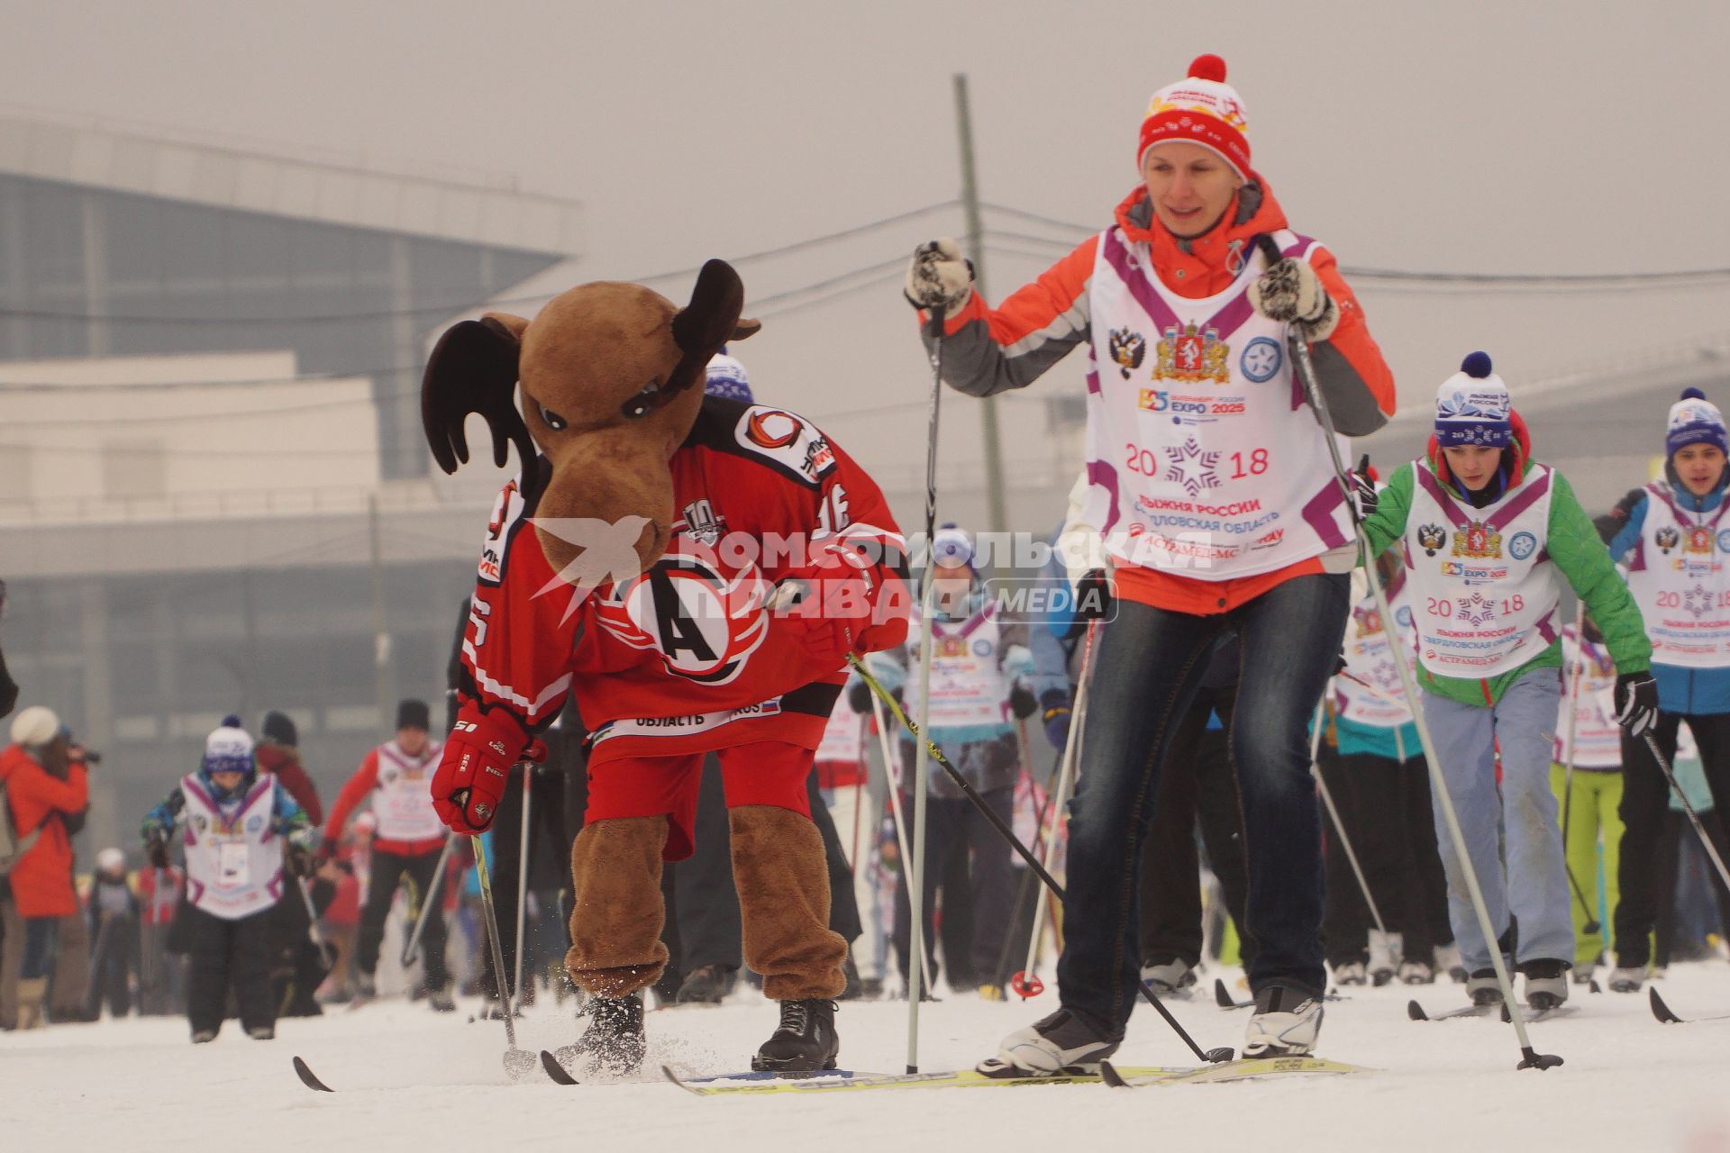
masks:
{"type": "MultiPolygon", "coordinates": [[[[1135,182],[1149,95],[1218,52],[1247,104],[1254,166],[1292,225],[1348,266],[1721,268],[1727,10],[0,0],[0,104],[384,169],[512,175],[586,204],[586,259],[566,277],[576,282],[955,197],[955,71],[972,85],[984,199],[1100,226],[1135,182]]],[[[948,211],[740,271],[761,299],[960,228],[948,211]]],[[[990,254],[988,296],[1057,254],[990,254]]],[[[689,282],[657,287],[678,299],[689,282]]],[[[1401,403],[1432,396],[1476,347],[1493,353],[1517,403],[1522,379],[1730,328],[1730,285],[1360,296],[1401,403]]],[[[737,353],[759,394],[827,418],[868,467],[922,470],[929,370],[898,278],[772,316],[737,353]],[[848,415],[881,405],[905,411],[848,415]]],[[[1080,389],[1081,372],[1071,356],[1033,392],[1080,389]]],[[[950,396],[946,460],[967,468],[976,410],[950,396]]],[[[1043,415],[1009,405],[1005,420],[1026,451],[1043,415]]],[[[1661,425],[1654,411],[1654,436],[1661,425]]]]}

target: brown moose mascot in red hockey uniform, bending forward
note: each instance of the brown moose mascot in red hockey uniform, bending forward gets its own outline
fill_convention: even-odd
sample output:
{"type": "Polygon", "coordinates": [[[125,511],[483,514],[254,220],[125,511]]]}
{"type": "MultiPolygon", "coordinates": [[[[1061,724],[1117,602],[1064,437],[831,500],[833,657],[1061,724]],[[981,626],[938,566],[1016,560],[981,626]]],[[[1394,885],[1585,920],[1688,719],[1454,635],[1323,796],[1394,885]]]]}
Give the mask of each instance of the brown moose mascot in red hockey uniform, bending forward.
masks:
{"type": "Polygon", "coordinates": [[[827,928],[823,845],[806,776],[848,653],[907,634],[905,543],[875,482],[808,420],[704,396],[744,287],[709,261],[676,308],[635,283],[586,283],[535,320],[450,328],[422,418],[446,472],[481,415],[498,494],[464,636],[460,710],[432,781],[439,816],[484,830],[505,774],[574,695],[590,733],[588,814],[571,845],[566,970],[590,1025],[567,1068],[628,1075],[642,989],[668,961],[661,863],[690,856],[704,754],[718,754],[744,959],[780,1001],[753,1058],[834,1068],[846,944],[827,928]]]}

